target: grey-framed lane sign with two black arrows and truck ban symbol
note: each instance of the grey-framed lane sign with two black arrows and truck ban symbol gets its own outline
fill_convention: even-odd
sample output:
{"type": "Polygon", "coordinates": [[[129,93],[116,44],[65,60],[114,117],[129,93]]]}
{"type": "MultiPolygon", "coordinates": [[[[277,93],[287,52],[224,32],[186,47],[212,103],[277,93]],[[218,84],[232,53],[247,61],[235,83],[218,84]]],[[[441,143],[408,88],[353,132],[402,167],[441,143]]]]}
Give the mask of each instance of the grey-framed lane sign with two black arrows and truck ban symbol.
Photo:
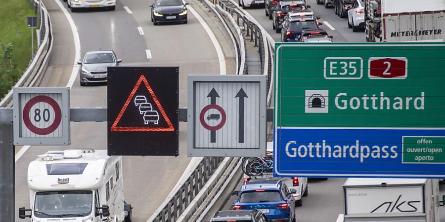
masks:
{"type": "Polygon", "coordinates": [[[266,154],[266,78],[188,76],[188,156],[266,154]]]}

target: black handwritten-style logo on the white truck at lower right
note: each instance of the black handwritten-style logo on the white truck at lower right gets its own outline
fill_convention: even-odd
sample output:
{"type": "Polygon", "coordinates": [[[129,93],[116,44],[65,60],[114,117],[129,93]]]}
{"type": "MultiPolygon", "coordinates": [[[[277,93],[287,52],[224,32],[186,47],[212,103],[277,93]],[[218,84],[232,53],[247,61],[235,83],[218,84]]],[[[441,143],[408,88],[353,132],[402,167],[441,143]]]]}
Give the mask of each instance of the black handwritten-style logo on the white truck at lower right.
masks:
{"type": "Polygon", "coordinates": [[[404,213],[404,212],[417,212],[418,208],[421,206],[416,206],[420,203],[420,200],[410,200],[410,201],[402,201],[402,195],[399,195],[396,202],[387,201],[380,204],[371,213],[404,213]]]}

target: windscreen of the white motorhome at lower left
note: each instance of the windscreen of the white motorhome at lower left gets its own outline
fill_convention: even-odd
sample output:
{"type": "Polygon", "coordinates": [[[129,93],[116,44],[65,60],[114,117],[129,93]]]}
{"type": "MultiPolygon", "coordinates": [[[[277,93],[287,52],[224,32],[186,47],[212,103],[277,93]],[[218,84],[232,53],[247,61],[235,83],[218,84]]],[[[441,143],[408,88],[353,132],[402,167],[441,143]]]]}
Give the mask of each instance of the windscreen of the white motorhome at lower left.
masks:
{"type": "Polygon", "coordinates": [[[34,215],[38,218],[82,216],[92,209],[92,191],[37,192],[34,199],[34,215]]]}

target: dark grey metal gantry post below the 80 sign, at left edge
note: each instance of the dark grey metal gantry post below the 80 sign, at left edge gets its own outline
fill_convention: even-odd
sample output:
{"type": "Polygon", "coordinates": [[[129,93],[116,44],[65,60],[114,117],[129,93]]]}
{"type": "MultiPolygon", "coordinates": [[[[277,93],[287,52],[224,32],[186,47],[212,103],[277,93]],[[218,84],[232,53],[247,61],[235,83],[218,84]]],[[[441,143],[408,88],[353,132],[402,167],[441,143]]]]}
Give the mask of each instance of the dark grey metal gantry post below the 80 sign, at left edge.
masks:
{"type": "Polygon", "coordinates": [[[0,220],[15,221],[15,150],[12,122],[0,122],[0,220]]]}

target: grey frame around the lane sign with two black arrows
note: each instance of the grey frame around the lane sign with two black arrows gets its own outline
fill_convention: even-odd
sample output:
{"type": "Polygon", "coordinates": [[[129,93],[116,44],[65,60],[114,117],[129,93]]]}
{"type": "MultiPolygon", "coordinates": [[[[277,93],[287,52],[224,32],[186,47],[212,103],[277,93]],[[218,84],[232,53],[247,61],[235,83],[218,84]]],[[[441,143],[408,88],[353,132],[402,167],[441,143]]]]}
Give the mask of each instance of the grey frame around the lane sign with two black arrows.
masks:
{"type": "MultiPolygon", "coordinates": [[[[232,156],[232,157],[251,157],[251,156],[265,156],[266,155],[266,76],[265,75],[188,75],[188,96],[187,96],[187,155],[188,156],[232,156]],[[195,113],[195,84],[198,82],[210,82],[210,83],[258,83],[260,85],[260,93],[258,97],[260,98],[259,104],[259,147],[258,148],[196,148],[195,146],[195,130],[196,130],[196,119],[200,118],[195,113]]],[[[219,106],[218,106],[219,107],[219,106]]],[[[207,105],[204,109],[217,109],[212,107],[212,105],[207,105]]],[[[204,110],[203,109],[203,110],[204,110]]],[[[217,109],[218,110],[218,109],[217,109]]],[[[201,113],[202,114],[202,113],[201,113]]],[[[201,115],[200,114],[200,115],[201,115]]],[[[223,114],[223,120],[229,118],[223,114]]],[[[250,113],[252,114],[252,113],[250,113]]],[[[200,120],[202,122],[202,119],[200,120]]],[[[222,122],[221,122],[222,123],[222,122]]],[[[219,127],[214,126],[216,128],[219,127]]],[[[204,128],[206,128],[203,125],[204,128]]],[[[244,131],[244,129],[243,129],[244,131]]]]}

